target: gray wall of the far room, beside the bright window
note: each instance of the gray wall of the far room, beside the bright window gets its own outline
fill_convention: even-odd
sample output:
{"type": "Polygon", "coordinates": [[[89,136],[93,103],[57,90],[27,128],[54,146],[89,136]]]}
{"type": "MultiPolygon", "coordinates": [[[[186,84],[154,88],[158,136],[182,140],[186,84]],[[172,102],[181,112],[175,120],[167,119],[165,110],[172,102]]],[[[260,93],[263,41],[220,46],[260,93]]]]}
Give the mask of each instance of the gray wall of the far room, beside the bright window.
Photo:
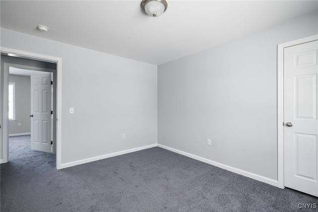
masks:
{"type": "Polygon", "coordinates": [[[31,88],[30,77],[9,75],[9,82],[15,83],[15,121],[9,121],[9,134],[30,133],[31,88]],[[21,123],[21,126],[18,126],[21,123]]]}

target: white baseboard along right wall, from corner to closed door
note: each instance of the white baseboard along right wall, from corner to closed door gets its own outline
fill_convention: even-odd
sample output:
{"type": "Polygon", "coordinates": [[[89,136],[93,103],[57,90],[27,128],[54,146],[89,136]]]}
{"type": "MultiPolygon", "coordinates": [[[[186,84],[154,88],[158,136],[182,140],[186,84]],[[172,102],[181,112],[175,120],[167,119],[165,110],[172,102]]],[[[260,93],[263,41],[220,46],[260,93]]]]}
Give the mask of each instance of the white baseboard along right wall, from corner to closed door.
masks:
{"type": "Polygon", "coordinates": [[[219,168],[222,168],[222,169],[237,173],[239,175],[243,175],[245,177],[248,177],[248,178],[251,178],[251,179],[254,179],[254,180],[257,180],[257,181],[260,181],[260,182],[267,183],[269,185],[278,187],[278,181],[277,180],[273,180],[273,179],[266,178],[266,177],[263,177],[263,176],[260,176],[260,175],[256,175],[256,174],[253,174],[253,173],[241,170],[241,169],[234,168],[232,166],[224,165],[222,163],[218,163],[218,162],[215,162],[215,161],[203,158],[203,157],[199,157],[199,156],[187,153],[187,152],[183,152],[183,151],[180,151],[180,150],[168,147],[168,146],[164,146],[164,145],[161,145],[161,144],[158,144],[158,147],[161,147],[163,149],[178,153],[180,155],[184,155],[184,156],[187,156],[187,157],[202,161],[204,163],[208,163],[210,165],[213,165],[213,166],[216,166],[216,167],[219,167],[219,168]]]}

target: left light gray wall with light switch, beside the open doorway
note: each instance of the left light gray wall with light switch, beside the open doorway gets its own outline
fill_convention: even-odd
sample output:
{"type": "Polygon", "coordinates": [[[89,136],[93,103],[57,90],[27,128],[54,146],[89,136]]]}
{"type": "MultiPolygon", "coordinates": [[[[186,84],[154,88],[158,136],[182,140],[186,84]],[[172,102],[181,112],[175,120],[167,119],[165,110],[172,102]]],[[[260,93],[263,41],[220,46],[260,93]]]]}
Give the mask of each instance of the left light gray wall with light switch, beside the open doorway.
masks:
{"type": "Polygon", "coordinates": [[[62,58],[62,165],[157,143],[157,66],[3,28],[1,46],[62,58]]]}

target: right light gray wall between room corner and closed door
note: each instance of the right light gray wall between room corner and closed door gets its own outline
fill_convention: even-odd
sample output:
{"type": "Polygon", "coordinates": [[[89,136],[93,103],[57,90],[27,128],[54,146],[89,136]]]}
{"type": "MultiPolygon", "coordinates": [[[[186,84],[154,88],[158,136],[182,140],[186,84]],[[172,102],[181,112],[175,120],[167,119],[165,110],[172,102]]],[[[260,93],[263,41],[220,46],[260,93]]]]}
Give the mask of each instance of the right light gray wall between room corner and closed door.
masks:
{"type": "Polygon", "coordinates": [[[158,143],[277,180],[277,44],[317,13],[160,65],[158,143]]]}

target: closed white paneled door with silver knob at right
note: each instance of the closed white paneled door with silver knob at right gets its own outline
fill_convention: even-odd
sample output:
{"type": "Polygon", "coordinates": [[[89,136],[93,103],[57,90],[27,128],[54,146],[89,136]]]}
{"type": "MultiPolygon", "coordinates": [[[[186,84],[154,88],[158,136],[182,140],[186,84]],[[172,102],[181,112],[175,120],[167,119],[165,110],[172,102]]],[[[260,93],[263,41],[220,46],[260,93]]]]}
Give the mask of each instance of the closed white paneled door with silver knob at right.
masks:
{"type": "Polygon", "coordinates": [[[284,186],[318,196],[318,41],[284,49],[284,186]]]}

